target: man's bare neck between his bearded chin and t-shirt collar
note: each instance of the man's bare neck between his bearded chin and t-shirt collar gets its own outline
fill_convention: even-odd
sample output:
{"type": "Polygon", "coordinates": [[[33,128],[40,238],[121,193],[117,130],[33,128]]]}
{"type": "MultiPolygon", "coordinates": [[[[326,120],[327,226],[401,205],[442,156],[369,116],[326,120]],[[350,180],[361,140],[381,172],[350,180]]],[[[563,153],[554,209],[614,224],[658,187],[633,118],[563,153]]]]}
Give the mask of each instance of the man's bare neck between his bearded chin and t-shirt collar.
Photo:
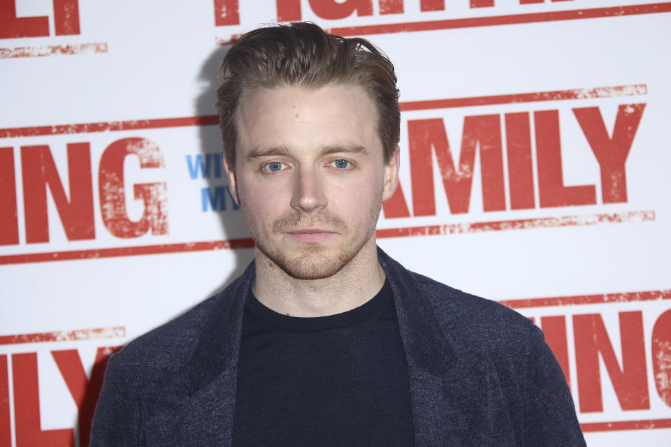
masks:
{"type": "Polygon", "coordinates": [[[326,316],[347,312],[373,298],[384,284],[371,237],[342,269],[323,279],[289,276],[258,248],[252,290],[266,307],[291,316],[326,316]]]}

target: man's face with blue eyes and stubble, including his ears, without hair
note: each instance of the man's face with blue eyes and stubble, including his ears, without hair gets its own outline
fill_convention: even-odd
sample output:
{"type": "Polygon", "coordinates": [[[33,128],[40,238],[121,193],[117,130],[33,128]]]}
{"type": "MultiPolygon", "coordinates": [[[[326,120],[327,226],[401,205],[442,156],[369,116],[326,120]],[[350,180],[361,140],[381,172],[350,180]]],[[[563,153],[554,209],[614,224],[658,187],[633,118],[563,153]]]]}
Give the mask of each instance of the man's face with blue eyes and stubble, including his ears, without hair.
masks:
{"type": "Polygon", "coordinates": [[[398,152],[384,163],[373,101],[361,87],[248,91],[236,151],[233,197],[257,248],[291,277],[330,277],[374,247],[398,152]]]}

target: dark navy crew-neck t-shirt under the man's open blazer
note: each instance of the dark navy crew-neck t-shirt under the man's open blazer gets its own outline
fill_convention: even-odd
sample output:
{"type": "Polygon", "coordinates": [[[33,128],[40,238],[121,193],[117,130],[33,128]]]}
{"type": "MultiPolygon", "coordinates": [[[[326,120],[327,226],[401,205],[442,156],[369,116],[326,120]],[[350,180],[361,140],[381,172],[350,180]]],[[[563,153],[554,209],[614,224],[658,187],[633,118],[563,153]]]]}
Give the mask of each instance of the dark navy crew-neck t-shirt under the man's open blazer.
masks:
{"type": "Polygon", "coordinates": [[[412,446],[405,353],[389,282],[342,314],[245,302],[233,446],[412,446]]]}

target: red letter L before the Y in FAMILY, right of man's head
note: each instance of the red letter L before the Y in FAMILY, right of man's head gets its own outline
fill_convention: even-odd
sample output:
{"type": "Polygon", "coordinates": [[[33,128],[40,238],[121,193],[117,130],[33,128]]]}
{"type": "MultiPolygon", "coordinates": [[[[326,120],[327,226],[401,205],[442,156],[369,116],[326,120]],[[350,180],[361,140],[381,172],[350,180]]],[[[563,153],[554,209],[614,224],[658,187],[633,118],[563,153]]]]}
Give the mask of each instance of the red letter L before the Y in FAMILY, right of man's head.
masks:
{"type": "Polygon", "coordinates": [[[541,110],[534,112],[533,117],[540,206],[567,207],[596,203],[594,185],[564,186],[558,110],[541,110]]]}

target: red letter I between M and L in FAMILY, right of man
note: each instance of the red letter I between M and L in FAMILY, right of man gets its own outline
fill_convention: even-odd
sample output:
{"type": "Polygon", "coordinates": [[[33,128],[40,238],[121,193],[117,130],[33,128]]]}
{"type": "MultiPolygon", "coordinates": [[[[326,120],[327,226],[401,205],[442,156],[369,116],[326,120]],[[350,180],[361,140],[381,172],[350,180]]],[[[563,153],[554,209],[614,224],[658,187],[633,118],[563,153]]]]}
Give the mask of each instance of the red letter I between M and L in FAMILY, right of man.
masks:
{"type": "Polygon", "coordinates": [[[505,114],[505,142],[508,154],[510,209],[533,208],[535,207],[533,161],[528,112],[505,114]]]}

